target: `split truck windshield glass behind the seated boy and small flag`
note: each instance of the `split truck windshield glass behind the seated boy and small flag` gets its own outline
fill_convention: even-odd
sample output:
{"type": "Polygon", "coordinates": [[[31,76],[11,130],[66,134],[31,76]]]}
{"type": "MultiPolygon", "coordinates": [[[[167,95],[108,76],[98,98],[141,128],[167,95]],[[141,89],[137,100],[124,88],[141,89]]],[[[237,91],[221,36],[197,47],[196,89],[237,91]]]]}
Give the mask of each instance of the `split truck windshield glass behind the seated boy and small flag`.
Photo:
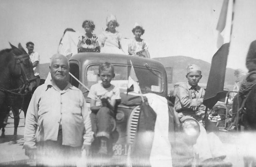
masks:
{"type": "MultiPolygon", "coordinates": [[[[131,66],[114,64],[115,77],[111,84],[117,85],[121,91],[127,90],[128,76],[130,75],[131,66]]],[[[90,88],[93,84],[100,83],[98,77],[99,64],[91,65],[86,70],[86,85],[90,88]]],[[[148,69],[143,66],[134,66],[136,76],[139,80],[139,85],[142,93],[147,92],[163,92],[163,76],[159,70],[148,69]]]]}

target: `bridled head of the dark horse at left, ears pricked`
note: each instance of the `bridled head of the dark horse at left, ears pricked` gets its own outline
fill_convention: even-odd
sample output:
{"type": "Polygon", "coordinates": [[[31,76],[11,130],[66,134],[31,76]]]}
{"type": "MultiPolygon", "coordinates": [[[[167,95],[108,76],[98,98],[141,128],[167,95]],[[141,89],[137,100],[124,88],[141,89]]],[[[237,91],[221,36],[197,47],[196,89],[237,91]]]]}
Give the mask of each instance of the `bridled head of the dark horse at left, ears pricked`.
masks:
{"type": "Polygon", "coordinates": [[[10,44],[12,48],[13,58],[10,61],[9,69],[11,76],[14,80],[18,81],[17,84],[25,85],[29,91],[35,90],[37,87],[36,77],[33,71],[33,65],[29,58],[28,53],[19,43],[18,48],[10,44]]]}

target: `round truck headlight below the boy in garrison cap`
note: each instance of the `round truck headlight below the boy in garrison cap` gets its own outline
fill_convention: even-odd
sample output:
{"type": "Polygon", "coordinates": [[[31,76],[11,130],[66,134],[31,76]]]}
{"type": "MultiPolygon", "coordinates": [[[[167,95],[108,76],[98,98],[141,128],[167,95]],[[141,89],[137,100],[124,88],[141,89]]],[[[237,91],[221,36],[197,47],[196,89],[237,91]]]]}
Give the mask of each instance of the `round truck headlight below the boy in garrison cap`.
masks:
{"type": "Polygon", "coordinates": [[[188,137],[196,137],[197,138],[200,134],[199,123],[192,118],[185,120],[183,123],[183,132],[188,137]]]}

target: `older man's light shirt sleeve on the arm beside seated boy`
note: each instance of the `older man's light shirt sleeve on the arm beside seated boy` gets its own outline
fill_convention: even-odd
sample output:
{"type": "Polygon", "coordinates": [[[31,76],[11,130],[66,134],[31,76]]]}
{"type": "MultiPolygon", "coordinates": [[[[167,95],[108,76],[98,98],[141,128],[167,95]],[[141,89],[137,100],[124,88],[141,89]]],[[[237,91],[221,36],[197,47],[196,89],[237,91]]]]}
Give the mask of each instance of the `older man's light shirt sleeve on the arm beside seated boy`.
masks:
{"type": "Polygon", "coordinates": [[[82,116],[83,116],[84,127],[85,127],[84,135],[83,135],[83,139],[84,139],[83,144],[91,145],[91,143],[93,142],[92,124],[91,124],[89,112],[86,107],[86,101],[83,95],[82,95],[82,102],[83,103],[82,103],[81,110],[82,110],[82,116]]]}

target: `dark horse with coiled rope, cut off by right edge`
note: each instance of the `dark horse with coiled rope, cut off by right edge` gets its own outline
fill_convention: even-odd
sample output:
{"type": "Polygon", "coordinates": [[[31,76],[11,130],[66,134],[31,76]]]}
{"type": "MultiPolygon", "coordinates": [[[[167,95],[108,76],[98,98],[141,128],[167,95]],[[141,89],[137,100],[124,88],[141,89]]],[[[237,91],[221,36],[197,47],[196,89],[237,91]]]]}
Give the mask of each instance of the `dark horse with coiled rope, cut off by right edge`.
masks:
{"type": "Polygon", "coordinates": [[[256,130],[256,71],[251,71],[246,76],[234,97],[232,124],[237,130],[256,130]]]}

